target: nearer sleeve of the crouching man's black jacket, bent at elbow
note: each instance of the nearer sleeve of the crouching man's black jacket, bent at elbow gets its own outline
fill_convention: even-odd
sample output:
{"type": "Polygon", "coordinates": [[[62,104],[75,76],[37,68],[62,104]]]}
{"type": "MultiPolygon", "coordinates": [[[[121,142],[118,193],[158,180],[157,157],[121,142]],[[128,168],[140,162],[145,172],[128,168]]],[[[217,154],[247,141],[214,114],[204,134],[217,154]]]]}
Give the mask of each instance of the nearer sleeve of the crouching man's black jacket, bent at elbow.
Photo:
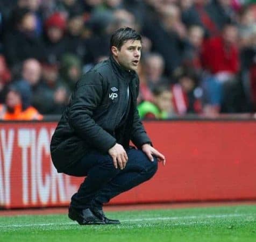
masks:
{"type": "Polygon", "coordinates": [[[116,139],[95,123],[93,112],[101,103],[104,83],[101,74],[91,71],[77,83],[69,104],[69,125],[86,143],[103,153],[116,144],[116,139]]]}

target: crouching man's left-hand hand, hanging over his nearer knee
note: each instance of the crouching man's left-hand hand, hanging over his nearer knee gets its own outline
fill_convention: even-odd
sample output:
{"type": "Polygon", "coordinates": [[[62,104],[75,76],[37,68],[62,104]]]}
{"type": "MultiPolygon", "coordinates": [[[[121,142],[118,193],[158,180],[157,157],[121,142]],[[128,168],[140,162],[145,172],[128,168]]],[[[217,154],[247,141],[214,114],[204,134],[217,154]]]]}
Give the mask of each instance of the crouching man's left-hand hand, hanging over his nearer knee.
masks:
{"type": "Polygon", "coordinates": [[[109,149],[109,154],[113,159],[113,164],[116,169],[118,166],[121,170],[125,168],[128,156],[122,145],[115,144],[112,148],[109,149]]]}

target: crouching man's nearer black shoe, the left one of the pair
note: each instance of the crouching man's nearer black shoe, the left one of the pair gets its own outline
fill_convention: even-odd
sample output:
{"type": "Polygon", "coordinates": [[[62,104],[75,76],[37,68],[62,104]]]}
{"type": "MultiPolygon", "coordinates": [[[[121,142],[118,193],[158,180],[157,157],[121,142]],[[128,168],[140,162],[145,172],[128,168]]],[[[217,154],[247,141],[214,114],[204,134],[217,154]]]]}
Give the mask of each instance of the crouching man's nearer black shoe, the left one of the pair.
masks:
{"type": "Polygon", "coordinates": [[[68,217],[72,220],[75,220],[80,225],[106,224],[103,219],[96,217],[89,208],[79,211],[69,207],[68,217]]]}

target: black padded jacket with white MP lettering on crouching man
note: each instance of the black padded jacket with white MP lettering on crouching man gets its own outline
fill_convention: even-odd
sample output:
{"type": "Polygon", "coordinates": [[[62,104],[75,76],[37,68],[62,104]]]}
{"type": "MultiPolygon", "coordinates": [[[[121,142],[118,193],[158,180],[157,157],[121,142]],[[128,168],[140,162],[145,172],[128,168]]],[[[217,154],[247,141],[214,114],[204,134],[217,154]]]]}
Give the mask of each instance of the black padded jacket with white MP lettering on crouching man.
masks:
{"type": "Polygon", "coordinates": [[[112,56],[84,74],[52,136],[51,156],[58,172],[65,172],[91,150],[108,154],[116,143],[125,148],[130,140],[138,148],[151,143],[139,119],[138,94],[136,72],[123,69],[112,56]]]}

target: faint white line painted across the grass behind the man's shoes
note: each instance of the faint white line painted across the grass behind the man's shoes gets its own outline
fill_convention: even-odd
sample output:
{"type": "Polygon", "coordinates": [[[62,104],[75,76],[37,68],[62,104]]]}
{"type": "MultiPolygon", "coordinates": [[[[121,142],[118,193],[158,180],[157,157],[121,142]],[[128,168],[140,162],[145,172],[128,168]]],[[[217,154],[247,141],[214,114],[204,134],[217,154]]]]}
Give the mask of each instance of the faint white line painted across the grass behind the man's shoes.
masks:
{"type": "MultiPolygon", "coordinates": [[[[181,216],[181,217],[154,217],[154,218],[138,218],[138,219],[121,219],[120,222],[143,222],[143,221],[156,221],[156,220],[178,220],[178,219],[204,219],[204,218],[231,218],[231,217],[243,217],[251,216],[250,214],[226,214],[226,215],[201,215],[201,216],[181,216]]],[[[10,224],[10,225],[1,225],[0,229],[4,228],[14,228],[14,227],[45,227],[53,225],[75,225],[76,222],[68,223],[41,223],[41,224],[10,224]]]]}

